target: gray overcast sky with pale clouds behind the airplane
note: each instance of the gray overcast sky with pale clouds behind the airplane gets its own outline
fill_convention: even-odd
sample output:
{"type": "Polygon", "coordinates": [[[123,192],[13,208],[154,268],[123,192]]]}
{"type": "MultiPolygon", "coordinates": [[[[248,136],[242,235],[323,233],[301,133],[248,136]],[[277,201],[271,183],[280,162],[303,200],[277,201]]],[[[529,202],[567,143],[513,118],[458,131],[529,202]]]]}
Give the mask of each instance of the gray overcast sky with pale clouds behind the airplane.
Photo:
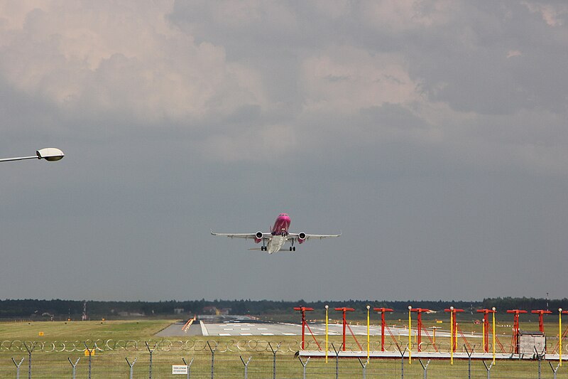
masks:
{"type": "Polygon", "coordinates": [[[567,297],[565,1],[4,0],[0,116],[2,299],[567,297]]]}

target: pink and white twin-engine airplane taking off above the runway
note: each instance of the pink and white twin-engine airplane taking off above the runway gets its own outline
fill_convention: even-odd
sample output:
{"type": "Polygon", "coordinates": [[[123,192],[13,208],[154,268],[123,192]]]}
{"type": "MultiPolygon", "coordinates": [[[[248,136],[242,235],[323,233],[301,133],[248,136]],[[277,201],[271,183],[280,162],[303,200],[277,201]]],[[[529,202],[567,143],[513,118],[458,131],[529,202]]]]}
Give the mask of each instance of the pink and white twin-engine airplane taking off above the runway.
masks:
{"type": "MultiPolygon", "coordinates": [[[[211,230],[211,235],[216,236],[223,236],[229,238],[244,238],[248,240],[254,240],[255,243],[262,242],[261,251],[266,251],[268,254],[272,254],[273,252],[277,251],[285,251],[283,246],[286,242],[290,241],[290,251],[296,251],[296,247],[294,246],[294,242],[298,244],[302,244],[306,240],[310,238],[332,238],[332,237],[339,237],[339,234],[306,234],[304,232],[300,233],[290,233],[288,232],[288,228],[290,228],[290,216],[286,213],[280,213],[278,218],[274,223],[274,226],[271,228],[271,231],[268,233],[263,233],[258,231],[256,233],[214,233],[211,230]]],[[[251,250],[258,250],[258,249],[251,249],[251,250]]]]}

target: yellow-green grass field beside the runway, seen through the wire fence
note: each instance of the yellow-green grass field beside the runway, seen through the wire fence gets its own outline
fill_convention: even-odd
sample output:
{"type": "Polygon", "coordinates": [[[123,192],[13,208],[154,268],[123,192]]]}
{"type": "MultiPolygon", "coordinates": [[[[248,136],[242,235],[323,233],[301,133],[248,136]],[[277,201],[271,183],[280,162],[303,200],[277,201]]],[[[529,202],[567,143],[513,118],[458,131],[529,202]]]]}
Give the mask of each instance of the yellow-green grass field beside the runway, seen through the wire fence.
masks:
{"type": "MultiPolygon", "coordinates": [[[[407,320],[408,321],[408,320],[407,320]]],[[[20,378],[28,375],[28,351],[23,347],[26,341],[29,347],[32,341],[37,342],[32,356],[32,378],[72,378],[72,363],[77,363],[76,378],[88,378],[89,358],[91,360],[91,378],[129,378],[129,364],[133,365],[134,378],[148,378],[150,376],[150,352],[146,348],[148,341],[152,353],[152,378],[184,378],[184,375],[172,375],[171,365],[182,364],[182,358],[187,362],[193,359],[191,377],[211,378],[212,361],[214,361],[214,378],[244,378],[244,364],[251,358],[248,366],[249,378],[273,378],[273,353],[268,347],[278,346],[283,342],[280,351],[276,354],[277,378],[302,378],[302,363],[294,356],[296,346],[300,346],[295,337],[283,336],[252,336],[253,341],[238,341],[234,337],[193,337],[172,338],[163,340],[154,335],[171,324],[172,320],[138,320],[138,321],[44,321],[44,322],[4,322],[0,323],[0,378],[15,378],[16,363],[23,361],[20,367],[20,378]],[[42,334],[40,336],[40,334],[42,334]],[[103,341],[113,341],[104,345],[103,341]],[[67,341],[67,342],[65,342],[67,341]],[[119,343],[117,343],[120,341],[119,343]],[[130,341],[130,342],[129,342],[130,341]],[[134,343],[133,341],[138,341],[134,343]],[[207,341],[214,347],[219,347],[212,356],[207,341]],[[95,349],[94,356],[84,353],[83,342],[89,349],[95,349]],[[114,348],[109,349],[108,346],[114,348]],[[228,349],[232,351],[227,351],[228,349]],[[212,359],[213,358],[213,359],[212,359]],[[70,361],[69,361],[70,360],[70,361]]],[[[389,324],[398,324],[399,321],[390,321],[389,324]]],[[[373,323],[376,325],[376,323],[373,323]]],[[[434,320],[426,321],[426,326],[442,326],[448,329],[449,322],[437,324],[434,320]]],[[[499,323],[503,325],[503,323],[499,323]]],[[[401,325],[401,324],[398,324],[401,325]]],[[[481,325],[469,323],[460,324],[464,333],[481,333],[481,325]]],[[[558,326],[548,323],[545,330],[556,337],[558,326]]],[[[537,324],[521,324],[521,329],[537,329],[537,324]],[[536,327],[535,327],[536,326],[536,327]]],[[[503,343],[510,343],[510,326],[500,326],[498,336],[503,343]],[[502,334],[505,333],[505,334],[502,334]]],[[[360,340],[365,338],[359,337],[360,340]]],[[[320,343],[324,337],[318,336],[320,343]]],[[[371,344],[378,348],[378,338],[371,344]]],[[[425,339],[425,338],[424,338],[425,339]]],[[[448,338],[446,338],[448,339],[448,338]]],[[[402,338],[405,342],[405,338],[402,338]]],[[[444,338],[442,338],[442,341],[444,338]]],[[[476,342],[480,343],[479,338],[476,342]]],[[[341,336],[330,338],[335,346],[341,344],[341,336]]],[[[359,341],[364,345],[364,341],[359,341]]],[[[556,341],[554,341],[556,342],[556,341]]],[[[449,340],[447,341],[449,343],[449,340]]],[[[568,356],[568,355],[567,355],[568,356]]],[[[305,363],[305,361],[304,361],[305,363]]],[[[426,364],[425,361],[423,361],[426,364]]],[[[487,362],[488,364],[490,362],[487,362]]],[[[556,365],[554,366],[556,367],[556,365]]],[[[366,366],[366,378],[423,378],[424,370],[420,362],[408,359],[374,359],[366,366]]],[[[448,361],[432,360],[427,367],[428,378],[487,378],[487,371],[483,363],[473,361],[471,371],[467,361],[455,361],[449,365],[448,361]]],[[[552,369],[547,363],[542,363],[541,378],[553,378],[552,369]]],[[[498,361],[491,369],[491,378],[538,378],[538,363],[536,361],[498,361]]],[[[306,365],[307,378],[334,378],[336,374],[335,358],[330,355],[328,363],[323,359],[312,358],[306,365]]],[[[568,365],[559,368],[558,377],[568,376],[568,365]]],[[[362,378],[363,368],[356,359],[339,360],[339,378],[362,378]]]]}

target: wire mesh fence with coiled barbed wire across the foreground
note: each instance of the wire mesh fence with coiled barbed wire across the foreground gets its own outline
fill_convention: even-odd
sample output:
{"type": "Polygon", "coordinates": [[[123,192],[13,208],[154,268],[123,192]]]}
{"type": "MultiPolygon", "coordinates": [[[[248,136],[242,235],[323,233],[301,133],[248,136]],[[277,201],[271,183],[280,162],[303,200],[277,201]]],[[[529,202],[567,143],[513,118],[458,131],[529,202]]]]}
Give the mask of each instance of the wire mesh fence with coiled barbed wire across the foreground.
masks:
{"type": "MultiPolygon", "coordinates": [[[[535,359],[327,358],[298,341],[2,341],[0,378],[567,378],[568,364],[535,359]],[[174,374],[173,372],[176,372],[174,374]]],[[[339,351],[339,350],[337,350],[339,351]]]]}

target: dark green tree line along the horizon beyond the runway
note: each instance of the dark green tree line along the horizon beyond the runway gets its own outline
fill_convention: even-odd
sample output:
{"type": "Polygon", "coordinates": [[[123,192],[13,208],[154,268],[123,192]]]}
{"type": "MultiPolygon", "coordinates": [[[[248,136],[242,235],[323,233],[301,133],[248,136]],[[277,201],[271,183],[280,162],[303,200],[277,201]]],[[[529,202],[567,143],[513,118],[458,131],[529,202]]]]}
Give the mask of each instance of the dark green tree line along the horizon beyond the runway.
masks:
{"type": "Polygon", "coordinates": [[[506,309],[568,309],[568,299],[535,299],[496,297],[483,301],[372,301],[372,300],[345,300],[345,301],[275,301],[275,300],[168,300],[168,301],[84,301],[84,300],[0,300],[0,319],[81,319],[84,303],[87,303],[87,315],[90,319],[118,319],[124,317],[140,316],[179,316],[180,318],[199,314],[249,314],[253,316],[289,315],[295,319],[295,306],[307,306],[315,309],[314,316],[321,316],[324,306],[328,305],[333,311],[335,307],[349,307],[356,309],[353,316],[362,316],[366,306],[391,308],[398,312],[408,311],[408,306],[425,308],[433,311],[443,311],[454,306],[472,314],[476,309],[493,306],[498,312],[506,309]]]}

